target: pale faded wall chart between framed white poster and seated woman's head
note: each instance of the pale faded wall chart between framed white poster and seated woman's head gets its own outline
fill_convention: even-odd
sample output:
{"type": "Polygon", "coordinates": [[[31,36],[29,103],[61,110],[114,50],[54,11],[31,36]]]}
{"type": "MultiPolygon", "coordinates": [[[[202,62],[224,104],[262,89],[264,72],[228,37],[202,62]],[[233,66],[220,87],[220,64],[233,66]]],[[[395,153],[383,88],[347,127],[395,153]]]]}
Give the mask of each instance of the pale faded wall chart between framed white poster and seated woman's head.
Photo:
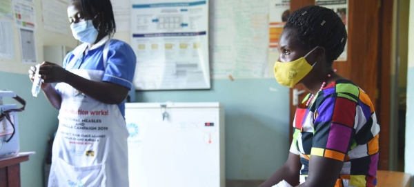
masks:
{"type": "Polygon", "coordinates": [[[267,77],[268,6],[268,0],[210,1],[214,79],[267,77]]]}

